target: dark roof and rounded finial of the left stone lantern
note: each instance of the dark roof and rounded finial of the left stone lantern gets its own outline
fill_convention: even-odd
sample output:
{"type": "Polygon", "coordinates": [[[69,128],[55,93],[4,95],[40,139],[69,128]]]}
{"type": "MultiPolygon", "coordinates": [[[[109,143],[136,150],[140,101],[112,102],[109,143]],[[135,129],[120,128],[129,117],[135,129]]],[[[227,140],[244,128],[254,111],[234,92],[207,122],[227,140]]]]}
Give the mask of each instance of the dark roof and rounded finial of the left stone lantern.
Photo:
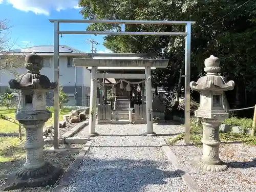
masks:
{"type": "Polygon", "coordinates": [[[45,75],[40,74],[42,57],[35,53],[30,53],[25,57],[25,68],[27,74],[20,75],[18,79],[11,79],[9,86],[11,89],[54,89],[57,87],[56,82],[51,82],[45,75]]]}

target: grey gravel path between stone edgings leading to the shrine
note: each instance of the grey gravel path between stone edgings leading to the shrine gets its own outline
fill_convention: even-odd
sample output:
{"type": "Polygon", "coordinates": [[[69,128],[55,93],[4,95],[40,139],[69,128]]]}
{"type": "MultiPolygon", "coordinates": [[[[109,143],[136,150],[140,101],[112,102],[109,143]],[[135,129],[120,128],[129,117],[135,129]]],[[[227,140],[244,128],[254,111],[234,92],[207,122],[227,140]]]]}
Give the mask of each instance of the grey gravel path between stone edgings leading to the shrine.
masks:
{"type": "MultiPolygon", "coordinates": [[[[65,191],[189,191],[167,160],[157,137],[144,137],[146,125],[96,125],[100,136],[65,191]]],[[[175,134],[175,125],[155,125],[156,133],[175,134]]],[[[88,126],[77,136],[84,137],[88,126]]]]}

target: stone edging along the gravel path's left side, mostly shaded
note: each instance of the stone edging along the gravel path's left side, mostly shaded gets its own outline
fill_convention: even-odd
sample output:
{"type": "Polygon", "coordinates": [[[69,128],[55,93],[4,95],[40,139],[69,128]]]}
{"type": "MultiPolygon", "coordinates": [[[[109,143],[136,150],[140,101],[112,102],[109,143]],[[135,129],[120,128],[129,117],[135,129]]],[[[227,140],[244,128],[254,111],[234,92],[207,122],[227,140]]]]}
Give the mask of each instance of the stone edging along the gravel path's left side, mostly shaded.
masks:
{"type": "Polygon", "coordinates": [[[93,140],[88,140],[86,144],[84,144],[84,147],[82,148],[82,150],[80,151],[80,153],[77,155],[75,161],[73,162],[73,164],[70,166],[70,168],[68,169],[68,171],[63,175],[63,177],[61,178],[61,180],[59,181],[59,184],[55,187],[55,189],[53,190],[53,192],[62,192],[65,191],[65,188],[69,185],[70,180],[71,180],[71,175],[74,174],[83,159],[83,156],[86,155],[86,153],[89,151],[89,148],[91,147],[93,143],[93,140]]]}

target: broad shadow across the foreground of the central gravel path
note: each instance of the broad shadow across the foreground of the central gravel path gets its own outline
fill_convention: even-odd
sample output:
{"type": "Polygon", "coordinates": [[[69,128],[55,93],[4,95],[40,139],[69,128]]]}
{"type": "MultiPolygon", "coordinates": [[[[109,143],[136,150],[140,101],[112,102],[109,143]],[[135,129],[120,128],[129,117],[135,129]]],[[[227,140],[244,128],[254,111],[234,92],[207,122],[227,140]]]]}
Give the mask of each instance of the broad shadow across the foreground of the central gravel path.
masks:
{"type": "MultiPolygon", "coordinates": [[[[166,162],[150,160],[104,160],[86,157],[66,191],[166,191],[163,189],[171,187],[164,186],[168,178],[180,177],[180,175],[175,170],[161,170],[159,165],[169,167],[166,162]],[[143,190],[144,187],[148,189],[143,190]]],[[[174,182],[175,180],[173,183],[172,181],[168,183],[175,184],[174,182]]]]}

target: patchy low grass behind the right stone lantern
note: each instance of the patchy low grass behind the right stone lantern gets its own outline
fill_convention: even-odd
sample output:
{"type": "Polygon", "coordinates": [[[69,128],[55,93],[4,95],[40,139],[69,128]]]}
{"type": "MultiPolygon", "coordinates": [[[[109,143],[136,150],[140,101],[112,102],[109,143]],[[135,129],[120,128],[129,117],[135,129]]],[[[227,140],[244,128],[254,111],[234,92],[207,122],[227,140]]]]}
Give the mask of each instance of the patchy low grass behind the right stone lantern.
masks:
{"type": "MultiPolygon", "coordinates": [[[[191,143],[197,144],[196,146],[202,146],[201,140],[203,137],[203,126],[202,124],[196,125],[196,119],[190,119],[190,134],[191,134],[191,143]]],[[[230,126],[240,126],[243,130],[242,133],[221,133],[220,132],[220,140],[222,142],[240,142],[248,145],[256,145],[256,136],[251,137],[250,135],[246,134],[248,130],[251,130],[252,127],[252,119],[242,118],[239,119],[237,117],[231,117],[224,121],[225,124],[230,126]]],[[[184,139],[184,133],[178,135],[176,139],[168,139],[168,144],[174,144],[179,140],[184,139]]]]}

